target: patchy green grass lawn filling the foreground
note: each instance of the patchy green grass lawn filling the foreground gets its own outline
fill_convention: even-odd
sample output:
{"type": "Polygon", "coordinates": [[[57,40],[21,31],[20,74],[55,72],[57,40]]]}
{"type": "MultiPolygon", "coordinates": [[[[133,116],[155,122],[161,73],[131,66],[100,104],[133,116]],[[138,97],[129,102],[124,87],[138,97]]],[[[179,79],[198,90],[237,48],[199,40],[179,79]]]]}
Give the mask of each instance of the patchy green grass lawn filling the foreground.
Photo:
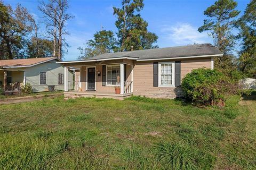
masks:
{"type": "Polygon", "coordinates": [[[256,95],[239,100],[197,108],[61,96],[1,105],[0,169],[256,169],[256,95]]]}

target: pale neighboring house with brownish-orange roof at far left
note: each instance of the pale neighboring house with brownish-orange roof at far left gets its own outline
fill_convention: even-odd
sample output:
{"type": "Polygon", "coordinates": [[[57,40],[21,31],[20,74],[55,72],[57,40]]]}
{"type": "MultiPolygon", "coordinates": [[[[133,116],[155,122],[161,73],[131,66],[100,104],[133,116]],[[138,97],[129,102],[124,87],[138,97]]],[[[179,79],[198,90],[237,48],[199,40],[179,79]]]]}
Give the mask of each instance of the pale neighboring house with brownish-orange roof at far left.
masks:
{"type": "MultiPolygon", "coordinates": [[[[64,89],[64,67],[55,57],[0,60],[0,85],[12,83],[30,83],[34,92],[48,91],[54,85],[55,90],[64,89]],[[4,84],[4,77],[6,84],[4,84]]],[[[68,72],[68,88],[72,88],[73,74],[68,72]]]]}

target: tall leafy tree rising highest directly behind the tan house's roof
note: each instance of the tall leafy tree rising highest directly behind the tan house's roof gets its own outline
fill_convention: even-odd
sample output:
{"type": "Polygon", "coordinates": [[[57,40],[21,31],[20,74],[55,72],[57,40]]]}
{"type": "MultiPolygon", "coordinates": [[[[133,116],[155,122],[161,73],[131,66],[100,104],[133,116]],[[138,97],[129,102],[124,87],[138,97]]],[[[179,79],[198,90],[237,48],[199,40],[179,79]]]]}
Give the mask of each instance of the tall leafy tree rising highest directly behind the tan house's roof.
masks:
{"type": "Polygon", "coordinates": [[[148,23],[139,14],[143,6],[143,0],[122,0],[122,8],[113,7],[121,52],[131,50],[132,46],[134,50],[157,48],[153,44],[158,37],[147,30],[148,23]]]}

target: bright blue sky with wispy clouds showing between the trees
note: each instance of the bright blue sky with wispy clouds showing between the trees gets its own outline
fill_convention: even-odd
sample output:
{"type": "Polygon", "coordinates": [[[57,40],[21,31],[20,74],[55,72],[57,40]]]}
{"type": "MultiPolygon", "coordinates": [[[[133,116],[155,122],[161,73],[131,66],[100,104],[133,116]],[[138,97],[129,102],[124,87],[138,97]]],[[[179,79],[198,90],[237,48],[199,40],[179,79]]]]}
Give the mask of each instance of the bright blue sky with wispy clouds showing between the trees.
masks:
{"type": "MultiPolygon", "coordinates": [[[[206,32],[199,33],[197,28],[203,24],[204,10],[215,1],[167,1],[145,0],[144,8],[140,12],[143,19],[148,22],[148,30],[158,36],[159,47],[180,46],[196,43],[213,43],[206,32]]],[[[243,11],[250,1],[237,1],[237,10],[243,11]]],[[[36,0],[4,0],[5,4],[13,7],[20,3],[33,13],[36,20],[41,23],[41,31],[44,31],[42,13],[38,11],[39,2],[36,0]]],[[[113,6],[121,6],[121,1],[100,0],[70,0],[69,13],[74,19],[68,21],[67,30],[70,36],[66,36],[70,45],[65,61],[76,60],[79,55],[79,46],[83,46],[86,40],[93,38],[101,27],[106,30],[117,31],[115,27],[116,17],[113,15],[113,6]]]]}

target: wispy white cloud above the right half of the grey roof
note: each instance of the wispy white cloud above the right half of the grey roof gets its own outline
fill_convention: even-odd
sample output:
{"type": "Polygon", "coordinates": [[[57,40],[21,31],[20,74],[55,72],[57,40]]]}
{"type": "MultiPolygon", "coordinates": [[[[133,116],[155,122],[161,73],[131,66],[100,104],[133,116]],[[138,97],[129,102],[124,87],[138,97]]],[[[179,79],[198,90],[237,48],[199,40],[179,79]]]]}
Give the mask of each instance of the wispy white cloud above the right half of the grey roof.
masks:
{"type": "Polygon", "coordinates": [[[209,43],[209,37],[206,32],[198,32],[196,27],[189,23],[177,23],[175,25],[163,25],[160,31],[163,38],[172,41],[177,45],[187,45],[209,43]]]}

